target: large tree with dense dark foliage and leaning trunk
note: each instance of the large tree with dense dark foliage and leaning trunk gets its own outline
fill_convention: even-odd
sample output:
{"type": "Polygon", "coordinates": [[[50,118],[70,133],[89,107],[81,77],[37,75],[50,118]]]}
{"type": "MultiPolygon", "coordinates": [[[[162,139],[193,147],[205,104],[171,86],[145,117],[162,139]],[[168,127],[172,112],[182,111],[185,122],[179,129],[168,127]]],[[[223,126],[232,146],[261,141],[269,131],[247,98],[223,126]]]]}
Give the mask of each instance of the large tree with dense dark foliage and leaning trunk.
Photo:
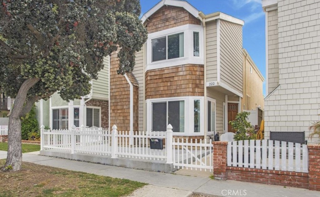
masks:
{"type": "Polygon", "coordinates": [[[139,0],[0,0],[0,88],[15,98],[3,170],[21,169],[20,117],[59,92],[80,99],[120,49],[119,74],[131,72],[147,39],[139,0]]]}

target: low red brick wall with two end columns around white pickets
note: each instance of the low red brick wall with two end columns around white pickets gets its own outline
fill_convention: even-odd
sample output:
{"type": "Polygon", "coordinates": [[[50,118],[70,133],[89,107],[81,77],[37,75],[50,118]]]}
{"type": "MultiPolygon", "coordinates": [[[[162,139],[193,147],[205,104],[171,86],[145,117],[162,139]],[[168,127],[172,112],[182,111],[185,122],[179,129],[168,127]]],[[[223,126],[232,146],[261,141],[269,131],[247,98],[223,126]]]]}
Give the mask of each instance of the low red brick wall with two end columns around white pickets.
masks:
{"type": "Polygon", "coordinates": [[[228,142],[212,142],[213,176],[220,180],[237,180],[268,185],[299,187],[320,191],[320,146],[308,145],[309,173],[262,170],[227,166],[228,142]]]}

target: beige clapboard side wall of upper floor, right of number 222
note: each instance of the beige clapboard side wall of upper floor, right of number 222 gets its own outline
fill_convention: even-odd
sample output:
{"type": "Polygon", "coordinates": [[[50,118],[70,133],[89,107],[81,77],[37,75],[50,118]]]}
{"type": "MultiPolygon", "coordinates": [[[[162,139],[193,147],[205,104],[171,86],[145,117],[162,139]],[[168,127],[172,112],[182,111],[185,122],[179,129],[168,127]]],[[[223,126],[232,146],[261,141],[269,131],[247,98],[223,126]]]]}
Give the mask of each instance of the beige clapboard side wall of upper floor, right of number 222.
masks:
{"type": "Polygon", "coordinates": [[[220,20],[220,80],[242,92],[242,26],[220,20]]]}

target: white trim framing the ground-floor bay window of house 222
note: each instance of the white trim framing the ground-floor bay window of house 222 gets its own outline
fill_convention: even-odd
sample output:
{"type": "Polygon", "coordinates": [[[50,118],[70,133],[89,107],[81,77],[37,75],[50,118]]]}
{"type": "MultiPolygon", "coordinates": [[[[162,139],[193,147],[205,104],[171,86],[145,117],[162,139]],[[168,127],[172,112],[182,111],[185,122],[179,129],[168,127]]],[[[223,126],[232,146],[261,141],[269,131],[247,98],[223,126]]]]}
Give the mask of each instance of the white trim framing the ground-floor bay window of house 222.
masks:
{"type": "Polygon", "coordinates": [[[178,136],[197,136],[204,135],[204,97],[203,96],[184,96],[184,97],[167,97],[157,99],[147,99],[146,122],[147,131],[152,129],[152,106],[154,102],[184,101],[184,132],[174,132],[178,136]],[[194,100],[200,100],[200,132],[194,132],[194,100]]]}

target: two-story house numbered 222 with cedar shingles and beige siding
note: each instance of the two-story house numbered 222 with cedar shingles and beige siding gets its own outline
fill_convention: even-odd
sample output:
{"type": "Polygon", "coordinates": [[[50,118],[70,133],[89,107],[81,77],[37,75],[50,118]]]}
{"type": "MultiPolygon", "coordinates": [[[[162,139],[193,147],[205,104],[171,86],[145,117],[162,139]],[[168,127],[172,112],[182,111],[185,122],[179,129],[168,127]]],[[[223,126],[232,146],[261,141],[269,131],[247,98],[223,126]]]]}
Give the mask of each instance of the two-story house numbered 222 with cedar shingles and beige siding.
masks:
{"type": "Polygon", "coordinates": [[[242,106],[263,108],[263,77],[243,50],[244,21],[221,12],[204,15],[186,1],[162,0],[142,22],[148,40],[136,54],[133,72],[118,75],[117,54],[110,57],[110,125],[166,131],[171,124],[174,135],[203,139],[231,132],[228,121],[242,106]],[[250,77],[244,73],[249,65],[250,77]]]}

